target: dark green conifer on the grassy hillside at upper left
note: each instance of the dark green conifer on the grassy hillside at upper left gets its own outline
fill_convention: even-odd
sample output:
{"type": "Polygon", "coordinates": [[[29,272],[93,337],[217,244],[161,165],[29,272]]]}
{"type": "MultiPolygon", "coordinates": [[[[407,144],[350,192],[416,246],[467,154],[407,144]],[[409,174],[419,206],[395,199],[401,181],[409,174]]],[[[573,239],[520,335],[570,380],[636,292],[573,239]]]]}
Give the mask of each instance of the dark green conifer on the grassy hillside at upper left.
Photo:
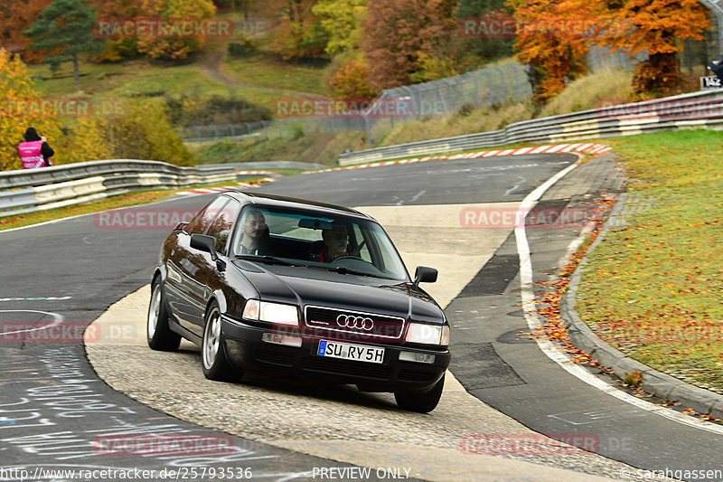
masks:
{"type": "Polygon", "coordinates": [[[53,71],[71,61],[75,89],[80,90],[79,54],[99,51],[99,39],[93,35],[95,22],[95,10],[84,0],[55,0],[24,34],[33,39],[31,50],[48,52],[43,62],[50,63],[53,71]]]}

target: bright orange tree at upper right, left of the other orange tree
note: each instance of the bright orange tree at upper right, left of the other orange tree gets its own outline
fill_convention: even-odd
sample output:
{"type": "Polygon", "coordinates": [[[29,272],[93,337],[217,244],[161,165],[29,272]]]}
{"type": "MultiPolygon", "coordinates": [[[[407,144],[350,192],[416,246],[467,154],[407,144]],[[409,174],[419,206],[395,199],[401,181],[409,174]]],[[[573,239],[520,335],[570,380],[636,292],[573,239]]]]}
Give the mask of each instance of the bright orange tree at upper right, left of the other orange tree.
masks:
{"type": "Polygon", "coordinates": [[[535,99],[547,102],[566,81],[587,72],[585,57],[596,26],[579,0],[510,0],[517,20],[517,59],[531,66],[535,99]]]}

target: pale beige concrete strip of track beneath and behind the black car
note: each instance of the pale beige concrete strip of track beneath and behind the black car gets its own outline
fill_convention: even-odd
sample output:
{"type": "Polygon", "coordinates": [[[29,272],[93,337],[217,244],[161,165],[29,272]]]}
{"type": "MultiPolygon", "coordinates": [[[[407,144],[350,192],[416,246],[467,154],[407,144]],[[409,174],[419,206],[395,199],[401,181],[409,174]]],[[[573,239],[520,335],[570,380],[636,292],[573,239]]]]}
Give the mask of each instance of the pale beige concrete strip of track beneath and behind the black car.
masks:
{"type": "MultiPolygon", "coordinates": [[[[390,213],[394,218],[388,220],[382,219],[386,208],[363,210],[380,220],[392,239],[416,240],[412,241],[413,246],[398,241],[408,266],[428,264],[454,272],[454,276],[445,277],[440,271],[439,281],[428,285],[445,307],[484,266],[506,234],[496,234],[485,245],[480,240],[490,238],[483,236],[481,230],[464,230],[459,234],[480,237],[474,243],[469,240],[469,248],[474,246],[481,251],[466,252],[458,259],[439,254],[440,258],[435,260],[430,253],[449,252],[444,240],[424,232],[414,236],[413,232],[422,225],[428,228],[430,219],[449,218],[446,210],[459,213],[460,207],[423,206],[417,211],[412,208],[405,213],[400,211],[407,208],[397,208],[394,214],[390,213]],[[395,231],[404,232],[405,236],[398,238],[395,231]],[[411,253],[419,252],[420,242],[426,243],[427,254],[416,258],[411,253]],[[477,256],[471,258],[470,254],[477,256]]],[[[149,298],[150,289],[146,286],[109,307],[90,326],[89,329],[99,329],[96,333],[100,336],[89,338],[86,351],[99,377],[112,388],[184,421],[359,466],[405,464],[412,469],[411,477],[427,480],[559,482],[621,479],[626,478],[626,470],[634,471],[594,453],[560,455],[560,443],[552,439],[541,442],[549,446],[550,455],[465,453],[460,440],[468,434],[542,438],[465,392],[450,373],[441,402],[429,414],[400,411],[392,395],[360,393],[350,386],[315,386],[263,377],[248,378],[244,383],[211,382],[203,377],[195,345],[184,341],[177,353],[154,352],[147,347],[149,298]]]]}

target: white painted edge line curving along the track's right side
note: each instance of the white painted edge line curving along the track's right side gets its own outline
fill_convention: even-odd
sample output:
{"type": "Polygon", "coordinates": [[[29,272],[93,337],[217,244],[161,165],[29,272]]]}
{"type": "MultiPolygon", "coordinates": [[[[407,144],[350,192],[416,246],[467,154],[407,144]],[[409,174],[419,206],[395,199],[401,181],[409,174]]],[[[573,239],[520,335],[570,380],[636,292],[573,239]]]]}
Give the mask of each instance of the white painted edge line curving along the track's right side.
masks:
{"type": "MultiPolygon", "coordinates": [[[[570,148],[575,148],[577,146],[579,145],[573,144],[570,146],[570,148]]],[[[526,211],[530,211],[531,208],[535,205],[535,203],[537,203],[537,201],[540,199],[540,197],[542,197],[542,194],[545,194],[545,192],[552,186],[552,184],[557,183],[562,177],[568,175],[568,173],[575,169],[575,167],[577,167],[577,164],[568,165],[568,167],[560,171],[558,174],[553,175],[543,184],[540,184],[534,191],[532,191],[524,198],[524,200],[520,204],[519,210],[523,213],[526,211]]],[[[530,327],[531,331],[535,331],[538,328],[542,327],[543,324],[540,320],[540,317],[538,317],[537,308],[535,306],[535,293],[532,289],[534,281],[532,278],[530,244],[527,241],[527,235],[525,233],[525,227],[523,223],[515,227],[514,235],[517,241],[517,253],[520,257],[520,288],[522,311],[524,313],[525,319],[527,320],[527,325],[530,327]]],[[[668,420],[676,421],[678,423],[688,425],[689,427],[695,429],[708,430],[718,435],[723,435],[723,427],[719,425],[711,425],[704,421],[698,421],[688,415],[683,415],[677,411],[672,411],[670,409],[657,406],[651,402],[636,398],[629,393],[617,389],[610,383],[606,383],[605,381],[597,378],[595,375],[587,372],[587,370],[585,370],[581,366],[578,366],[577,364],[572,364],[568,355],[562,352],[562,350],[560,350],[557,345],[553,344],[549,340],[543,338],[536,338],[535,341],[540,347],[542,353],[546,354],[550,360],[554,361],[556,364],[559,364],[559,366],[563,370],[567,371],[573,376],[576,376],[582,382],[585,382],[588,385],[593,386],[602,392],[606,392],[608,395],[612,395],[622,402],[630,403],[631,405],[634,405],[641,410],[651,413],[657,413],[658,415],[661,415],[668,420]]]]}

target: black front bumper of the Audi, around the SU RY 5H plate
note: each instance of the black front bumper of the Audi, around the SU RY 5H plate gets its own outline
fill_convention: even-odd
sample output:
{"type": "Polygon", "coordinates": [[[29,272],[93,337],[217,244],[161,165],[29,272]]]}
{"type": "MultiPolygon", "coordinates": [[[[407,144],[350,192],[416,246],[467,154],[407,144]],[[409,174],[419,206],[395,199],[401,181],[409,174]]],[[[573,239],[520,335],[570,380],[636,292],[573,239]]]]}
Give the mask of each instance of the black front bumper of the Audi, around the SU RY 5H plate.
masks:
{"type": "Polygon", "coordinates": [[[382,363],[343,360],[316,354],[319,339],[314,337],[302,336],[300,347],[263,341],[263,334],[272,332],[272,326],[251,326],[222,317],[221,329],[229,362],[239,370],[278,373],[294,378],[324,380],[328,383],[350,383],[357,385],[363,392],[427,390],[442,378],[451,359],[451,354],[446,349],[356,343],[383,347],[382,363]],[[399,360],[400,352],[434,354],[435,360],[431,364],[399,360]]]}

